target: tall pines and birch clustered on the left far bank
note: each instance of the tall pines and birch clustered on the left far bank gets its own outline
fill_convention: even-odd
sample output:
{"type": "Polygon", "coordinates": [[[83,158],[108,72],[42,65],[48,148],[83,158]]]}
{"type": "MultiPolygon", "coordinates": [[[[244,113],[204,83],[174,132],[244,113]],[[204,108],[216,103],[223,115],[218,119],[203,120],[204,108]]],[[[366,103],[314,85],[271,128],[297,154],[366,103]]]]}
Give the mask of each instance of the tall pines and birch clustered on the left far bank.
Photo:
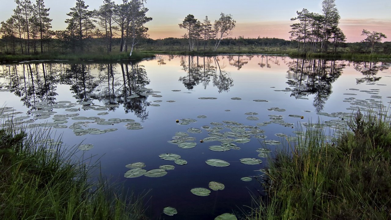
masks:
{"type": "Polygon", "coordinates": [[[30,0],[15,2],[14,14],[1,22],[0,27],[5,52],[12,54],[50,52],[55,47],[63,51],[89,51],[95,38],[102,39],[102,47],[111,52],[116,37],[120,38],[119,50],[130,50],[132,54],[138,41],[148,36],[144,25],[152,20],[145,15],[146,0],[122,0],[121,4],[104,0],[95,10],[89,10],[83,0],[76,0],[75,7],[66,14],[69,16],[65,20],[66,29],[53,31],[50,8],[45,7],[43,0],[36,0],[35,4],[30,0]],[[53,45],[54,41],[57,45],[53,45]]]}

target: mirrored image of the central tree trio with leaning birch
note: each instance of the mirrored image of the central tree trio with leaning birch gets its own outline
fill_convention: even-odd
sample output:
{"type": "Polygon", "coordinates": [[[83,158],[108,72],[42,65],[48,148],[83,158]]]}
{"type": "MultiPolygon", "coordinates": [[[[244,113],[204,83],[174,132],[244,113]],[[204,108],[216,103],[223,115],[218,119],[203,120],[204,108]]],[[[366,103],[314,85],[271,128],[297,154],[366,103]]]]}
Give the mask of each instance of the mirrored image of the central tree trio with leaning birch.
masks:
{"type": "Polygon", "coordinates": [[[206,89],[212,78],[213,86],[217,87],[219,92],[228,91],[233,86],[233,79],[222,70],[218,58],[213,57],[213,60],[210,57],[203,57],[203,60],[200,61],[199,56],[181,56],[180,65],[187,72],[187,75],[180,77],[179,81],[182,81],[189,90],[201,82],[206,89]]]}

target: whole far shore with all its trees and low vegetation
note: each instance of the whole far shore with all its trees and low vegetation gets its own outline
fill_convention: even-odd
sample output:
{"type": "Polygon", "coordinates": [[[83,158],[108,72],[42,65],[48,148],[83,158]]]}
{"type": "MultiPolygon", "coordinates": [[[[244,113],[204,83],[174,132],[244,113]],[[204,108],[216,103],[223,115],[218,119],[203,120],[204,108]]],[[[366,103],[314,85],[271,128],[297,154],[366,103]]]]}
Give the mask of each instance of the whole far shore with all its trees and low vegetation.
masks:
{"type": "Polygon", "coordinates": [[[180,29],[180,38],[151,39],[145,24],[145,0],[123,0],[115,4],[104,0],[99,9],[90,9],[83,0],[77,0],[67,13],[65,30],[54,30],[50,9],[44,0],[15,0],[11,18],[0,26],[0,56],[38,54],[85,54],[100,52],[116,54],[134,50],[168,54],[204,53],[276,53],[276,54],[370,54],[387,56],[391,42],[382,42],[387,36],[381,32],[362,30],[362,41],[347,43],[339,28],[335,0],[323,0],[322,11],[297,11],[291,18],[290,40],[273,37],[232,37],[236,21],[231,14],[221,13],[214,22],[205,16],[199,20],[188,14],[180,29]]]}

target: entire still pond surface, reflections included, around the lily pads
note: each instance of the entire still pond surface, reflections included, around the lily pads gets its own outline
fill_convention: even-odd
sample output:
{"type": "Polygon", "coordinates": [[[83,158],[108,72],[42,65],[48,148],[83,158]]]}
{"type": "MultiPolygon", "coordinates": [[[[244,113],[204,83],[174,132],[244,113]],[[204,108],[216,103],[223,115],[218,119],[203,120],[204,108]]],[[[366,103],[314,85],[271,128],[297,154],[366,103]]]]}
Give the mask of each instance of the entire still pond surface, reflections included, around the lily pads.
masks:
{"type": "MultiPolygon", "coordinates": [[[[343,125],[341,119],[357,108],[375,107],[380,103],[388,105],[391,96],[387,86],[391,84],[389,67],[388,60],[325,61],[262,55],[162,55],[138,63],[12,62],[0,66],[0,101],[18,113],[14,118],[29,116],[19,118],[21,122],[29,122],[23,123],[25,126],[51,128],[57,136],[61,134],[64,148],[81,142],[93,144],[91,150],[81,151],[78,156],[84,153],[84,157],[100,157],[102,173],[113,180],[123,181],[126,190],[135,194],[151,190],[146,196],[146,207],[147,215],[152,219],[214,219],[222,213],[248,211],[246,206],[251,206],[251,196],[263,195],[258,181],[263,173],[259,170],[267,166],[267,159],[258,157],[256,150],[267,148],[274,152],[284,149],[287,141],[276,133],[296,136],[293,131],[299,127],[298,123],[307,126],[306,123],[318,120],[327,121],[325,124],[334,129],[343,125]],[[148,91],[156,95],[145,94],[148,91]],[[140,97],[127,98],[131,95],[140,97]],[[198,99],[200,97],[217,99],[198,99]],[[231,99],[234,97],[240,100],[231,99]],[[79,104],[86,101],[92,103],[79,104]],[[69,112],[69,109],[75,112],[69,112]],[[102,112],[108,114],[98,115],[102,112]],[[257,114],[246,115],[247,112],[257,114]],[[53,123],[56,117],[66,114],[100,119],[75,120],[75,117],[68,117],[60,122],[67,128],[53,124],[38,125],[53,123]],[[198,118],[199,115],[206,115],[206,118],[198,118]],[[248,120],[249,116],[258,120],[248,120]],[[143,128],[128,130],[128,122],[117,123],[119,119],[133,119],[143,128]],[[177,119],[197,121],[181,125],[176,123],[177,119]],[[113,123],[102,125],[98,124],[99,120],[113,123]],[[223,121],[235,121],[237,124],[223,121]],[[222,125],[213,125],[212,122],[222,125]],[[70,129],[72,125],[79,125],[84,130],[117,130],[90,134],[90,129],[80,133],[70,129]],[[208,132],[201,128],[205,125],[223,130],[208,132]],[[228,142],[236,144],[240,150],[212,151],[209,146],[220,145],[221,142],[199,142],[209,133],[231,132],[230,128],[234,126],[245,128],[247,136],[244,136],[250,140],[238,143],[238,137],[227,137],[232,138],[228,142]],[[199,128],[202,132],[188,133],[188,128],[199,128]],[[249,133],[251,131],[253,133],[249,133]],[[189,137],[195,137],[195,141],[187,142],[197,145],[182,149],[168,143],[176,132],[187,132],[189,137]],[[261,139],[255,135],[267,137],[261,139]],[[266,140],[282,144],[262,142],[266,140]],[[187,164],[177,165],[174,161],[160,159],[159,155],[163,153],[178,154],[187,164]],[[240,162],[242,158],[263,162],[248,165],[240,162]],[[209,166],[205,163],[208,159],[225,160],[230,166],[209,166]],[[175,169],[167,170],[163,177],[124,178],[124,173],[129,170],[125,166],[134,162],[144,162],[145,170],[168,164],[174,165],[175,169]],[[242,177],[252,177],[252,180],[244,182],[242,177]],[[224,190],[211,190],[210,195],[205,197],[190,192],[193,188],[208,188],[210,181],[223,183],[224,190]],[[178,214],[162,214],[167,206],[175,207],[178,214]]],[[[3,118],[12,112],[7,108],[3,111],[3,118]]]]}

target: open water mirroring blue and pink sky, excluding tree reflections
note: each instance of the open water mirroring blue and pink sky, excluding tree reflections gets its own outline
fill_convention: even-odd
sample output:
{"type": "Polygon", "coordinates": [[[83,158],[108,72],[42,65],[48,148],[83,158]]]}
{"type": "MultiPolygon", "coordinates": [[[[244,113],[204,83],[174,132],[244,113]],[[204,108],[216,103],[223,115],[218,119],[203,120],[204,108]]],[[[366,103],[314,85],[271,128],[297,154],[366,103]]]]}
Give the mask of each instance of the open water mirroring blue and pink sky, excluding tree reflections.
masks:
{"type": "MultiPolygon", "coordinates": [[[[163,58],[167,56],[163,55],[163,58]]],[[[264,168],[267,164],[260,166],[250,166],[241,164],[241,158],[257,158],[257,148],[263,147],[257,139],[251,138],[251,141],[246,144],[237,144],[240,150],[230,150],[226,152],[215,152],[208,149],[209,146],[219,145],[219,142],[204,142],[199,143],[200,139],[208,136],[207,132],[203,130],[199,134],[190,134],[195,137],[197,146],[191,149],[181,149],[174,144],[169,144],[167,141],[172,139],[175,132],[186,132],[187,128],[201,128],[203,125],[210,125],[210,122],[222,122],[223,120],[237,121],[245,125],[255,126],[256,123],[269,121],[268,115],[284,115],[285,122],[303,123],[307,121],[317,121],[318,115],[314,112],[313,95],[307,96],[308,100],[294,99],[290,97],[289,92],[275,92],[274,90],[283,90],[287,85],[287,70],[285,63],[291,62],[292,59],[276,58],[274,56],[264,56],[263,63],[268,62],[270,68],[259,67],[262,56],[253,56],[249,60],[246,56],[240,56],[240,59],[248,61],[239,71],[237,67],[231,66],[227,57],[219,56],[219,64],[222,70],[227,72],[228,76],[233,79],[233,86],[229,91],[218,92],[217,87],[210,84],[204,89],[202,83],[196,85],[192,90],[187,90],[182,81],[178,79],[186,76],[187,72],[182,70],[180,66],[180,56],[171,61],[165,60],[166,65],[158,65],[157,60],[142,61],[139,65],[143,65],[147,72],[147,76],[151,83],[147,88],[152,88],[162,97],[149,96],[147,101],[162,100],[161,106],[147,107],[149,117],[144,122],[141,122],[134,114],[124,113],[124,107],[120,106],[115,112],[109,112],[108,115],[97,115],[100,111],[95,110],[81,110],[80,112],[66,112],[64,109],[55,109],[56,114],[72,114],[79,113],[80,116],[99,116],[106,120],[111,118],[119,119],[135,119],[144,127],[141,130],[127,130],[125,123],[114,124],[112,126],[103,126],[93,124],[83,125],[83,128],[118,128],[115,132],[105,133],[102,135],[84,135],[75,136],[72,130],[65,128],[55,130],[57,135],[63,134],[63,141],[72,146],[74,144],[91,143],[94,148],[86,151],[84,158],[90,155],[97,155],[95,159],[100,158],[102,166],[102,173],[111,175],[113,179],[124,181],[125,189],[141,193],[152,189],[147,197],[152,197],[149,206],[151,207],[152,216],[155,218],[160,215],[163,207],[172,206],[178,209],[178,219],[190,219],[188,216],[192,215],[195,219],[213,219],[216,213],[231,212],[237,206],[241,207],[243,204],[250,205],[251,197],[249,191],[257,193],[256,189],[260,189],[260,185],[255,180],[251,182],[243,182],[242,177],[259,175],[260,173],[254,170],[264,168]],[[285,62],[285,63],[284,63],[285,62]],[[276,64],[279,63],[280,65],[276,64]],[[271,88],[275,87],[275,88],[271,88]],[[180,92],[173,92],[171,90],[181,90],[180,92]],[[217,97],[216,100],[201,100],[199,97],[217,97]],[[242,100],[231,100],[232,97],[240,97],[242,100]],[[253,99],[266,99],[269,102],[254,102],[253,99]],[[175,100],[174,103],[167,103],[167,100],[175,100]],[[279,107],[285,108],[285,112],[268,111],[267,108],[279,107]],[[224,110],[231,110],[226,112],[224,110]],[[304,112],[309,110],[311,112],[304,112]],[[249,121],[246,119],[248,115],[246,112],[257,112],[258,121],[249,121]],[[300,120],[297,118],[288,117],[289,114],[303,115],[305,118],[300,120]],[[197,115],[206,115],[207,118],[199,119],[197,115]],[[196,119],[196,123],[189,125],[179,125],[175,123],[176,119],[192,118],[196,119]],[[179,166],[173,161],[162,160],[158,157],[162,153],[177,153],[181,155],[182,159],[187,160],[188,164],[179,166]],[[230,162],[230,166],[224,168],[211,167],[205,164],[208,159],[222,159],[230,162]],[[138,177],[134,179],[125,179],[123,174],[127,171],[126,164],[133,162],[145,162],[146,170],[156,169],[160,165],[171,164],[175,165],[175,170],[168,171],[168,174],[159,178],[138,177]],[[208,197],[197,197],[190,193],[191,188],[208,187],[208,182],[217,181],[225,184],[225,189],[219,192],[212,192],[208,197]],[[190,208],[189,208],[190,207],[190,208]],[[214,209],[212,208],[214,207],[214,209]],[[213,209],[213,210],[212,210],[213,209]],[[180,211],[181,210],[181,211],[180,211]],[[180,216],[182,215],[182,216],[180,216]]],[[[237,56],[234,56],[234,59],[237,56]]],[[[212,58],[213,59],[213,58],[212,58]]],[[[188,61],[187,57],[185,58],[188,61]]],[[[193,58],[196,61],[197,57],[193,58]]],[[[296,59],[295,59],[296,60],[296,59]]],[[[339,63],[339,61],[337,61],[339,63]]],[[[203,64],[203,58],[199,57],[199,64],[203,64]]],[[[214,62],[212,62],[214,65],[214,62]]],[[[121,86],[122,74],[120,73],[120,66],[113,65],[119,71],[115,78],[119,80],[117,88],[121,86]]],[[[93,67],[93,65],[91,65],[93,67]]],[[[95,67],[93,67],[95,68],[95,67]]],[[[98,75],[96,69],[91,70],[91,74],[98,75]]],[[[384,70],[378,73],[382,79],[378,83],[391,84],[390,70],[384,70]]],[[[336,79],[332,84],[333,92],[326,101],[324,112],[349,112],[346,108],[350,107],[350,103],[343,102],[344,98],[350,97],[343,95],[343,93],[355,93],[357,99],[368,99],[370,94],[365,92],[348,90],[349,88],[357,88],[360,90],[380,89],[379,96],[383,96],[383,101],[389,101],[386,96],[389,95],[389,88],[387,86],[367,85],[361,83],[356,85],[356,78],[362,78],[362,74],[353,69],[353,66],[347,66],[343,69],[342,75],[336,79]]],[[[97,77],[98,78],[98,77],[97,77]]],[[[95,78],[95,79],[97,79],[95,78]]],[[[2,79],[2,83],[7,83],[7,80],[2,79]]],[[[101,83],[106,85],[106,81],[101,83]]],[[[69,85],[57,85],[56,96],[57,101],[75,101],[72,97],[74,94],[70,92],[69,85]]],[[[97,92],[98,93],[98,92],[97,92]]],[[[12,93],[3,92],[0,96],[0,102],[4,103],[12,101],[14,108],[17,111],[25,111],[21,105],[19,97],[15,97],[12,93]]],[[[99,101],[93,101],[97,105],[102,105],[99,101]]],[[[152,102],[153,103],[153,102],[152,102]]],[[[7,105],[9,106],[9,105],[7,105]]],[[[330,120],[335,118],[321,117],[322,120],[330,120]]],[[[45,119],[49,122],[52,119],[45,119]]],[[[40,120],[38,122],[43,122],[40,120]]],[[[72,119],[68,120],[67,125],[74,123],[72,119]]],[[[211,126],[211,125],[210,125],[211,126]]],[[[212,126],[211,126],[212,127],[212,126]]],[[[284,127],[280,124],[269,124],[259,129],[265,130],[267,139],[280,140],[275,133],[285,133],[293,135],[295,130],[291,127],[284,127]]],[[[228,129],[223,130],[229,131],[228,129]]],[[[266,146],[271,150],[281,149],[282,146],[266,146]]],[[[94,161],[94,159],[92,159],[94,161]]]]}

